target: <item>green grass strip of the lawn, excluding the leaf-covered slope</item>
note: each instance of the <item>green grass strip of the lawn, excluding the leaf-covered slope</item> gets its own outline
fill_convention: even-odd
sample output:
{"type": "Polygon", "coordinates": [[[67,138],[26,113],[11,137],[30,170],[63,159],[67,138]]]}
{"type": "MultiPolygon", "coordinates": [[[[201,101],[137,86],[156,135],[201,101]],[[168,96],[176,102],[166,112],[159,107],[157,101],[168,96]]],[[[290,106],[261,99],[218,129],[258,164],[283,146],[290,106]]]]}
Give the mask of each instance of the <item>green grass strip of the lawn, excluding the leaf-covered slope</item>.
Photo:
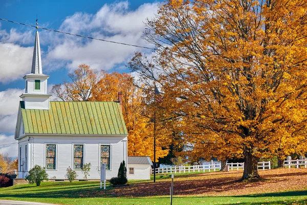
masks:
{"type": "MultiPolygon", "coordinates": [[[[115,198],[112,187],[100,190],[99,182],[42,182],[41,186],[16,185],[0,188],[0,199],[60,204],[169,204],[167,196],[115,198]],[[100,193],[106,192],[107,197],[100,193]],[[93,193],[93,195],[91,195],[93,193]]],[[[104,194],[105,195],[105,194],[104,194]]],[[[174,197],[173,204],[307,204],[307,191],[292,191],[245,196],[174,197]]]]}

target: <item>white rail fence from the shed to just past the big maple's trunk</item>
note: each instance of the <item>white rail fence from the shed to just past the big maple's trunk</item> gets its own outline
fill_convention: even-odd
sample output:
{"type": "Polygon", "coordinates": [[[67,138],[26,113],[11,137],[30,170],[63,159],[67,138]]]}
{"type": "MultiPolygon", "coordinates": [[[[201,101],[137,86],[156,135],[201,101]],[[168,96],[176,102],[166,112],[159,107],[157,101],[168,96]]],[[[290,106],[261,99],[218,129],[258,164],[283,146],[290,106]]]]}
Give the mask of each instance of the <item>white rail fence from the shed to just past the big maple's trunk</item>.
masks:
{"type": "MultiPolygon", "coordinates": [[[[226,165],[229,166],[229,170],[239,170],[244,169],[244,162],[243,163],[227,163],[226,165]]],[[[258,169],[271,169],[271,161],[261,161],[258,162],[258,169]]],[[[156,168],[157,174],[163,173],[190,173],[190,172],[215,172],[220,171],[221,163],[214,163],[212,165],[194,165],[194,166],[179,166],[179,167],[164,167],[164,168],[156,168]]],[[[153,169],[151,169],[151,174],[153,174],[153,169]]]]}

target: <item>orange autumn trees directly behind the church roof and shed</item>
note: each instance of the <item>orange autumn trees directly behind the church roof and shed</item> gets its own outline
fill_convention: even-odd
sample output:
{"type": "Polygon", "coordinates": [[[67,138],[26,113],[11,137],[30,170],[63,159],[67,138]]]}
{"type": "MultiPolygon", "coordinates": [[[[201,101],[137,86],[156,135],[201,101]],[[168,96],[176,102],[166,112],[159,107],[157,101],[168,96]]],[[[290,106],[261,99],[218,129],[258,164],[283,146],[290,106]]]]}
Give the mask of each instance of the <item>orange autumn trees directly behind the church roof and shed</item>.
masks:
{"type": "MultiPolygon", "coordinates": [[[[144,90],[135,86],[134,77],[127,73],[106,73],[80,65],[70,80],[52,88],[52,94],[60,100],[118,101],[122,93],[122,111],[128,130],[128,155],[150,156],[153,160],[152,121],[144,115],[146,111],[144,90]]],[[[157,159],[167,154],[168,147],[157,144],[157,159]],[[162,146],[165,148],[162,149],[162,146]]]]}

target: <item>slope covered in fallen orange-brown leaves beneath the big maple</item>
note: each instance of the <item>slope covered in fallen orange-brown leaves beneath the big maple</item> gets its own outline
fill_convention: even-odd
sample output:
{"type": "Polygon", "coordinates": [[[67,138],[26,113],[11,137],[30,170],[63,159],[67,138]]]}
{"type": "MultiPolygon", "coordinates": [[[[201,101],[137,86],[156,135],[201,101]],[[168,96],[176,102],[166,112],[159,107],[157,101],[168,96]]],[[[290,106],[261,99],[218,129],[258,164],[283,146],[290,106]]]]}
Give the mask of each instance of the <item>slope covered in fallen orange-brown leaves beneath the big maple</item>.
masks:
{"type": "MultiPolygon", "coordinates": [[[[242,177],[242,172],[212,172],[175,176],[174,195],[237,196],[307,190],[307,169],[259,171],[263,180],[257,182],[238,181],[242,177]]],[[[112,195],[126,197],[169,195],[170,180],[158,180],[156,183],[132,183],[129,187],[119,187],[112,190],[112,195]]]]}

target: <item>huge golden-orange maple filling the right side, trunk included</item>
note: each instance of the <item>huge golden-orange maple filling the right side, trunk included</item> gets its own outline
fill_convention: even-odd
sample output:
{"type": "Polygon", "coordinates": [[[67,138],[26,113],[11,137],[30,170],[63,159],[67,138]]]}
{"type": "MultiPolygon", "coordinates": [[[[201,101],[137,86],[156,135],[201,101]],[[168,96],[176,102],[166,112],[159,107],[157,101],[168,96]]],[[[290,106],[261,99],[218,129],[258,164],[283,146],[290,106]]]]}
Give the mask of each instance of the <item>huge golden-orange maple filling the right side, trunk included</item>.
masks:
{"type": "Polygon", "coordinates": [[[162,85],[190,155],[244,156],[251,179],[260,157],[306,149],[306,3],[175,0],[147,21],[155,64],[130,67],[162,85]]]}

